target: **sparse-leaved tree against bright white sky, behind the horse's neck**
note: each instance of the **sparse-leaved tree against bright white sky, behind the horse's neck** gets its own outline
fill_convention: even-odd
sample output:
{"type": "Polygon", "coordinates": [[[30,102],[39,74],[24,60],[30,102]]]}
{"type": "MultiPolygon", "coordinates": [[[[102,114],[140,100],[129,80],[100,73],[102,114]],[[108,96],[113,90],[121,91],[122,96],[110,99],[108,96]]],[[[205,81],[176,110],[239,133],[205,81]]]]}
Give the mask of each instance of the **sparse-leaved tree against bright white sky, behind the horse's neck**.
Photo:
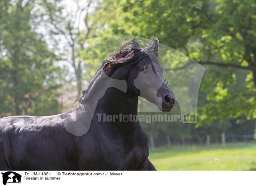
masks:
{"type": "MultiPolygon", "coordinates": [[[[73,0],[72,8],[59,3],[55,5],[44,0],[47,14],[44,22],[49,29],[49,37],[55,40],[52,44],[59,47],[62,58],[67,61],[74,70],[73,81],[76,81],[78,96],[81,95],[84,65],[84,50],[87,47],[87,39],[93,38],[102,32],[108,17],[114,14],[114,9],[109,7],[113,0],[107,1],[79,1],[73,0]],[[49,26],[50,25],[50,26],[49,26]]],[[[45,13],[43,12],[43,15],[45,13]]],[[[85,55],[84,55],[85,56],[85,55]]],[[[90,56],[88,57],[90,59],[90,56]]]]}

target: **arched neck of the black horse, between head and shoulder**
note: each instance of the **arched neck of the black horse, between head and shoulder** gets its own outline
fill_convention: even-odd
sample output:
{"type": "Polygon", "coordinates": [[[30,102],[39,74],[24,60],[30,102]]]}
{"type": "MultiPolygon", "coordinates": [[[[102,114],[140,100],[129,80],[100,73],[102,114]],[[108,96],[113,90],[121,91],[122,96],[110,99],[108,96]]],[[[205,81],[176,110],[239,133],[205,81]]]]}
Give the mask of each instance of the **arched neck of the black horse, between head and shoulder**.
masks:
{"type": "MultiPolygon", "coordinates": [[[[122,78],[121,78],[122,79],[122,78]]],[[[129,96],[125,80],[117,80],[108,76],[96,76],[83,96],[80,103],[73,109],[63,113],[62,119],[65,129],[75,136],[82,136],[92,127],[99,131],[113,131],[114,128],[125,128],[133,134],[137,128],[137,121],[104,122],[97,120],[97,113],[106,115],[137,115],[138,96],[129,96]],[[124,125],[126,124],[126,125],[124,125]]],[[[92,129],[93,130],[93,129],[92,129]]]]}

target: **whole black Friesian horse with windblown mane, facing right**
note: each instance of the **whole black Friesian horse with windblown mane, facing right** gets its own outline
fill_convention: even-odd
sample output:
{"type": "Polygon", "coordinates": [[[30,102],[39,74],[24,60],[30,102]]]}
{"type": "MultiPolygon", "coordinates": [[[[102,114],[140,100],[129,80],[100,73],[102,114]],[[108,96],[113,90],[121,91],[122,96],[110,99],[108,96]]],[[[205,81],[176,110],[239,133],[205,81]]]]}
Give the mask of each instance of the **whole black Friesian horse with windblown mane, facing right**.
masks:
{"type": "Polygon", "coordinates": [[[170,111],[176,96],[162,76],[158,40],[126,41],[90,81],[79,104],[55,116],[0,119],[1,170],[156,170],[137,116],[138,96],[170,111]]]}

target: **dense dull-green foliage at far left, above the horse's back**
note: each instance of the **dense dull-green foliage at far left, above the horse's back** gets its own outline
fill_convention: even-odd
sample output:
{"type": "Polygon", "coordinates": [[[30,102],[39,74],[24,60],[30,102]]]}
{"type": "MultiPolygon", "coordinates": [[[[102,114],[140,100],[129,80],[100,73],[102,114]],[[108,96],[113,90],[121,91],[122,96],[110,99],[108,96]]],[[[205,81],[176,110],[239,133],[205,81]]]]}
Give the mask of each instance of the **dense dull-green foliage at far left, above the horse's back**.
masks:
{"type": "Polygon", "coordinates": [[[23,4],[0,3],[0,116],[58,112],[55,55],[31,23],[34,4],[23,4]]]}

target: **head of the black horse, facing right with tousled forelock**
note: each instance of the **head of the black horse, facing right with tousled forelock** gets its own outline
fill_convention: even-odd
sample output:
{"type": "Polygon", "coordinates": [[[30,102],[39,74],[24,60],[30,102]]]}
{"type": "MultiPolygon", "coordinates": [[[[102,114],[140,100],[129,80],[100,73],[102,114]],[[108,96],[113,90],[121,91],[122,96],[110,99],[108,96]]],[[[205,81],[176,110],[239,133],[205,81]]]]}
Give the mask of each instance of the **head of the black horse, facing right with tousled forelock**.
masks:
{"type": "Polygon", "coordinates": [[[163,78],[163,68],[158,61],[158,43],[157,38],[153,44],[145,46],[135,39],[126,41],[119,52],[104,62],[103,69],[111,78],[124,78],[128,94],[141,96],[161,111],[169,112],[177,98],[163,78]]]}

